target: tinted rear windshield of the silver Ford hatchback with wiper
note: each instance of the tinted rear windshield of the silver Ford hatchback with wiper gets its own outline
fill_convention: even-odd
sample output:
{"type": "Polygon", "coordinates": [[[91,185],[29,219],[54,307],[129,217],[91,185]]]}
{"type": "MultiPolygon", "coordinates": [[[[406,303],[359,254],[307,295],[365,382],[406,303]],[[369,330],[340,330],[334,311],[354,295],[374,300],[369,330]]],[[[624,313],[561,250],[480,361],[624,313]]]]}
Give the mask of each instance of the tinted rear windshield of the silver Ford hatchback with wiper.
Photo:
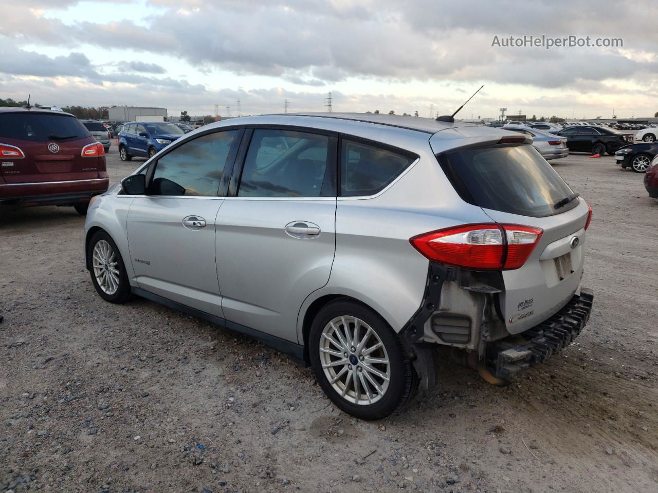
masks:
{"type": "Polygon", "coordinates": [[[532,145],[461,149],[437,157],[457,193],[470,204],[534,218],[578,204],[572,200],[554,208],[573,191],[532,145]]]}

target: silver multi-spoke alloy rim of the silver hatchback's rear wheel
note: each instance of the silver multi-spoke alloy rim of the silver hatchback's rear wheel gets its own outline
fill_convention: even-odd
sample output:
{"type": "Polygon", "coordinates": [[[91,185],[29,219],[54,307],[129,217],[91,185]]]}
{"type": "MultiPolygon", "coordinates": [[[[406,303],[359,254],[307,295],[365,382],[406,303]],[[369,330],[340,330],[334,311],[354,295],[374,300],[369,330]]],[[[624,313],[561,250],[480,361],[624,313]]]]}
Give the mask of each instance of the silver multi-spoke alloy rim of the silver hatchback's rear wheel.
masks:
{"type": "Polygon", "coordinates": [[[334,390],[353,404],[380,400],[391,380],[384,343],[365,321],[351,316],[332,319],[320,337],[320,364],[334,390]]]}

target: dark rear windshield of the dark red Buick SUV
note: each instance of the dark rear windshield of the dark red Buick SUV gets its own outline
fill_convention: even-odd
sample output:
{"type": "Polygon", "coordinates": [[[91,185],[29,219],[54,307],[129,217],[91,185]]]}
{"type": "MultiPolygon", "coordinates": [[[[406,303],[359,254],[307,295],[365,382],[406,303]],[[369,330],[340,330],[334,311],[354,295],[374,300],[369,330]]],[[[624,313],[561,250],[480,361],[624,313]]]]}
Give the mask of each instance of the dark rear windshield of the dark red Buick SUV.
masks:
{"type": "Polygon", "coordinates": [[[0,137],[24,141],[66,141],[89,137],[89,131],[74,116],[44,113],[0,114],[0,137]]]}

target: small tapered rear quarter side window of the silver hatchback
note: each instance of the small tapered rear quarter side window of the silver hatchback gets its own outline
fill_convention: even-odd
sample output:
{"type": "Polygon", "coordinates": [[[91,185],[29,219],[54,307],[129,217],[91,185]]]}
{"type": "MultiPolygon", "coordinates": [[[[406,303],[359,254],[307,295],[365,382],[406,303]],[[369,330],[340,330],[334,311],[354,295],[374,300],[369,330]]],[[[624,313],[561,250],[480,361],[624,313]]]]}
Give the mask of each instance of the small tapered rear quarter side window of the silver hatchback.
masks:
{"type": "Polygon", "coordinates": [[[382,191],[417,156],[343,139],[340,185],[343,197],[374,195],[382,191]]]}

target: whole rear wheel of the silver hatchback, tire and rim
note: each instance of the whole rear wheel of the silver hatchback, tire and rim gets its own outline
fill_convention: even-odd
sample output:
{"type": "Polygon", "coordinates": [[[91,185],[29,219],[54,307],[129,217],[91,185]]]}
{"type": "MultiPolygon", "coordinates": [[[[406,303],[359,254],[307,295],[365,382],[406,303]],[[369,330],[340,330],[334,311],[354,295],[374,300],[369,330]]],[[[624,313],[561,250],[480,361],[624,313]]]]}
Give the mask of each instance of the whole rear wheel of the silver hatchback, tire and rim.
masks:
{"type": "Polygon", "coordinates": [[[388,323],[346,298],[318,312],[309,356],[324,393],[338,408],[361,419],[390,415],[418,388],[411,361],[388,323]]]}

